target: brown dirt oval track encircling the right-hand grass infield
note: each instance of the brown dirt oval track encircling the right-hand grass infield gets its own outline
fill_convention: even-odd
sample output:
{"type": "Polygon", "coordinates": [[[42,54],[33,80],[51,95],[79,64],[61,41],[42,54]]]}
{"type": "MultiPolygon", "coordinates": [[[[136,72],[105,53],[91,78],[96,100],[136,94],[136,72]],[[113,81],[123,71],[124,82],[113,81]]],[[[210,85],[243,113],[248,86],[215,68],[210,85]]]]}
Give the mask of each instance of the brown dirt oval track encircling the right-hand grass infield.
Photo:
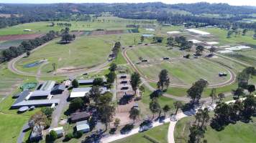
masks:
{"type": "MultiPolygon", "coordinates": [[[[154,44],[150,44],[150,45],[152,46],[152,45],[154,45],[154,44]]],[[[150,45],[147,45],[147,46],[150,46],[150,45]]],[[[134,47],[127,47],[127,49],[124,49],[124,51],[122,52],[122,54],[123,54],[124,58],[127,60],[127,62],[132,66],[132,68],[133,68],[135,71],[137,71],[144,79],[146,79],[148,82],[158,82],[157,80],[155,80],[155,79],[150,79],[150,78],[146,77],[144,74],[142,74],[142,72],[141,72],[139,69],[137,69],[137,67],[132,63],[131,59],[129,59],[129,56],[127,56],[127,51],[128,51],[129,49],[140,48],[140,47],[143,47],[143,46],[145,46],[145,45],[142,45],[142,46],[134,46],[134,47]]],[[[203,59],[203,60],[210,61],[210,60],[208,60],[208,59],[204,59],[204,58],[202,58],[202,59],[203,59]]],[[[232,83],[235,82],[236,74],[234,73],[234,71],[232,71],[231,69],[227,68],[226,66],[222,66],[222,65],[220,65],[220,64],[217,64],[217,63],[215,63],[214,61],[210,61],[210,62],[212,62],[213,64],[216,64],[216,65],[218,65],[218,66],[221,66],[221,67],[224,68],[224,69],[226,69],[226,70],[229,72],[229,74],[230,74],[230,78],[229,78],[229,80],[228,80],[227,82],[222,82],[222,83],[219,83],[219,84],[209,84],[208,87],[210,87],[210,88],[224,87],[224,86],[227,86],[227,85],[232,84],[232,83]]],[[[181,87],[181,88],[189,88],[189,87],[191,87],[191,86],[189,86],[189,85],[183,85],[183,84],[170,84],[170,86],[171,86],[171,87],[181,87]]]]}

